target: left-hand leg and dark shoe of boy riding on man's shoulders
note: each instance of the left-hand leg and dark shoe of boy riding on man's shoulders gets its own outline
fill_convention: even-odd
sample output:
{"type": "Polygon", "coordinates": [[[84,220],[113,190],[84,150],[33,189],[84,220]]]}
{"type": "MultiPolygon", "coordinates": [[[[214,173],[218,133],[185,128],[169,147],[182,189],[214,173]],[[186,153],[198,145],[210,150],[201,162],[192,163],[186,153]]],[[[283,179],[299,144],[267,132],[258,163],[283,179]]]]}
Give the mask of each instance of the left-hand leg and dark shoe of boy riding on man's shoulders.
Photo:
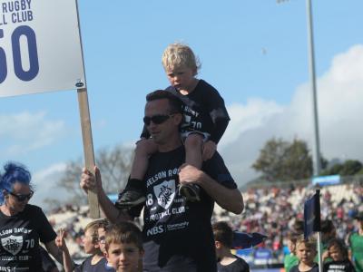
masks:
{"type": "Polygon", "coordinates": [[[141,140],[136,143],[130,178],[116,202],[118,208],[125,209],[137,206],[145,201],[143,176],[149,165],[149,157],[156,151],[157,148],[152,139],[141,140]]]}

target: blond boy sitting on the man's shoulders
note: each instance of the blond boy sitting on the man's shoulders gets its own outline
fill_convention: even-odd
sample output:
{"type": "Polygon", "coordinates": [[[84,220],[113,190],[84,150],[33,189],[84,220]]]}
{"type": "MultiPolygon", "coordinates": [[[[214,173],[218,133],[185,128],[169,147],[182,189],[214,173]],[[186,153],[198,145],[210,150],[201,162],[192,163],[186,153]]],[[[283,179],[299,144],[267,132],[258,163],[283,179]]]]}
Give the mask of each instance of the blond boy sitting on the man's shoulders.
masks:
{"type": "MultiPolygon", "coordinates": [[[[220,93],[209,83],[198,80],[198,63],[191,48],[185,44],[170,44],[162,54],[162,65],[171,86],[166,89],[181,99],[183,121],[182,140],[185,146],[185,162],[201,169],[202,161],[209,160],[230,121],[220,93]]],[[[146,126],[136,145],[130,180],[123,190],[118,206],[123,209],[145,201],[142,179],[148,168],[148,159],[157,151],[150,140],[146,126]]],[[[185,198],[197,201],[199,186],[195,183],[181,184],[179,191],[185,198]]]]}

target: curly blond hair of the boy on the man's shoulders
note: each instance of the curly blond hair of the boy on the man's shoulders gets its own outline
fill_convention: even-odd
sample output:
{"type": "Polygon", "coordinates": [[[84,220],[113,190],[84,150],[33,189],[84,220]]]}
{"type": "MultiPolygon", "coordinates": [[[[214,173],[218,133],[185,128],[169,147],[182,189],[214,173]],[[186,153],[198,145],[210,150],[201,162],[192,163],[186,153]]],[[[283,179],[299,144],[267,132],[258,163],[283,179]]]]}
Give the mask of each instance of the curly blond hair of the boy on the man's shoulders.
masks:
{"type": "Polygon", "coordinates": [[[187,67],[195,69],[195,72],[201,68],[198,58],[186,44],[174,43],[169,44],[162,53],[162,66],[167,71],[187,67]]]}

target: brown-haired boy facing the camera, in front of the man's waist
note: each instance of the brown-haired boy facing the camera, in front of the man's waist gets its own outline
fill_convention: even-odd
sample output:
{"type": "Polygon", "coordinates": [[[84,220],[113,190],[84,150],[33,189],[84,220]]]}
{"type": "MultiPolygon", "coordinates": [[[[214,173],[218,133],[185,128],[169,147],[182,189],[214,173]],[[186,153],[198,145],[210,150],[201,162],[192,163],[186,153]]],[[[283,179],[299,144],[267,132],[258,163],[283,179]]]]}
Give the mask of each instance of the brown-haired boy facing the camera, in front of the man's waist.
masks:
{"type": "Polygon", "coordinates": [[[142,271],[142,232],[131,222],[122,222],[107,229],[106,257],[117,272],[142,271]]]}

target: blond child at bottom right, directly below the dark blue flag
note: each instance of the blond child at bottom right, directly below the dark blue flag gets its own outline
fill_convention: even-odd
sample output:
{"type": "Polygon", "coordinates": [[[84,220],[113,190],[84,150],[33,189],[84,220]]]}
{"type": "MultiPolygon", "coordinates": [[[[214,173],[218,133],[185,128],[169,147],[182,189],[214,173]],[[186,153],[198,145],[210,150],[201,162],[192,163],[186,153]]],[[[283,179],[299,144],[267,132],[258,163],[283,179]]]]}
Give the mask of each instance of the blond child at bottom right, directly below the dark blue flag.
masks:
{"type": "Polygon", "coordinates": [[[317,255],[316,241],[298,238],[295,250],[299,265],[291,267],[289,272],[319,272],[319,266],[314,262],[314,257],[317,255]]]}

